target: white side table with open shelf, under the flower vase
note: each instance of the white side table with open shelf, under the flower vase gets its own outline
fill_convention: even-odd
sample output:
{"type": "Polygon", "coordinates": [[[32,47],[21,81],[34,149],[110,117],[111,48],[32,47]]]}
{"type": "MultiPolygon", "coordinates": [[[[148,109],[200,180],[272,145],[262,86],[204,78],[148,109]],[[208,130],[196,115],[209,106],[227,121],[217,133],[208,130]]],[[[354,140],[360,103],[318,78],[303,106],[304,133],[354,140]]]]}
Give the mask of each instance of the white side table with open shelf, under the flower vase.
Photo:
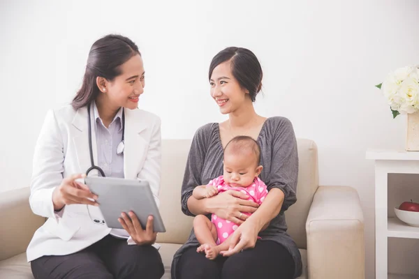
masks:
{"type": "Polygon", "coordinates": [[[419,152],[368,150],[367,159],[375,160],[376,279],[413,279],[388,273],[388,237],[419,239],[419,227],[388,218],[388,174],[419,174],[419,152]]]}

